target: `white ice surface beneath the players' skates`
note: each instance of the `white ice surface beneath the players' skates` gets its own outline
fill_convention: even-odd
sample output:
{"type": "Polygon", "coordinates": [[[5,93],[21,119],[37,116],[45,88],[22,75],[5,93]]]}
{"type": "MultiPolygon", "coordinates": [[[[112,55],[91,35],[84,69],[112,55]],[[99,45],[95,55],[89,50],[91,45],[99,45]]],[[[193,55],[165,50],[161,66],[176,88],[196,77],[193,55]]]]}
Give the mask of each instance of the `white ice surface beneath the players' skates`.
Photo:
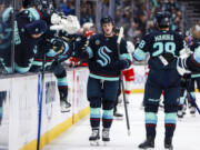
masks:
{"type": "MultiPolygon", "coordinates": [[[[143,94],[132,94],[128,106],[131,129],[130,137],[128,137],[126,118],[123,117],[122,120],[114,119],[110,133],[111,141],[107,146],[103,146],[103,142],[100,141],[99,147],[91,147],[88,140],[91,134],[89,117],[86,117],[42,150],[138,150],[138,144],[146,138],[143,110],[141,109],[142,98],[143,94]]],[[[197,101],[200,106],[200,93],[197,94],[197,101]]],[[[120,106],[120,109],[121,111],[124,110],[123,104],[120,106]]],[[[156,150],[164,150],[163,114],[163,111],[159,110],[156,150]]],[[[174,150],[200,150],[200,114],[196,113],[196,117],[191,117],[187,111],[186,117],[178,121],[173,147],[174,150]]]]}

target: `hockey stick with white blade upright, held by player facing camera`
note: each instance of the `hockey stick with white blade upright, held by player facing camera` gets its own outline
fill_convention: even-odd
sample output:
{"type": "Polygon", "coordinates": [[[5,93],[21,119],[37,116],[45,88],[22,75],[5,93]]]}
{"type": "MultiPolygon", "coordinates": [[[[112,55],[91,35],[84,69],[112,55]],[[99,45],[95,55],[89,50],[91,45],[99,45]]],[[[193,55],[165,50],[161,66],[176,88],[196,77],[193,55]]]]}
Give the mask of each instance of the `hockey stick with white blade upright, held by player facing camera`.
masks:
{"type": "MultiPolygon", "coordinates": [[[[119,37],[117,40],[118,44],[118,57],[120,58],[120,42],[121,38],[123,36],[123,28],[120,28],[119,37]]],[[[123,103],[124,103],[124,111],[126,111],[126,120],[127,120],[127,129],[128,129],[128,136],[130,136],[130,123],[129,123],[129,113],[128,113],[128,108],[127,108],[127,102],[126,102],[126,94],[124,94],[124,82],[123,82],[123,77],[122,77],[122,71],[120,71],[120,80],[122,84],[122,92],[123,92],[123,103]]]]}

